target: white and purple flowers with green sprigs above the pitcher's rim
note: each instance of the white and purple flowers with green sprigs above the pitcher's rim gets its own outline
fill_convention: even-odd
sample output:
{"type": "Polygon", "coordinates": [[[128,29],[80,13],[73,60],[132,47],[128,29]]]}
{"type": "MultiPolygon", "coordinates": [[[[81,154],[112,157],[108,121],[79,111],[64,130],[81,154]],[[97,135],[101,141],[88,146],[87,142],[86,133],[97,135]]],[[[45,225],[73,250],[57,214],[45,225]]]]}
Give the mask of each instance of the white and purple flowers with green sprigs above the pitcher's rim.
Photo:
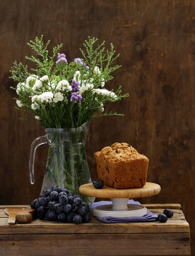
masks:
{"type": "MultiPolygon", "coordinates": [[[[27,65],[14,62],[11,78],[18,84],[11,88],[18,94],[16,108],[34,113],[34,119],[40,120],[44,128],[77,128],[97,116],[121,116],[120,113],[103,113],[105,102],[129,96],[128,93],[121,95],[120,87],[115,93],[105,88],[105,83],[113,79],[110,73],[120,67],[111,67],[119,55],[115,56],[112,44],[105,54],[105,41],[95,48],[96,41],[89,37],[83,44],[85,51],[80,49],[82,58],[70,63],[66,55],[59,53],[63,44],[54,47],[50,57],[50,41],[44,45],[43,36],[30,41],[29,47],[41,59],[26,57],[36,64],[31,73],[27,65]]],[[[29,119],[29,116],[21,119],[29,119]]]]}

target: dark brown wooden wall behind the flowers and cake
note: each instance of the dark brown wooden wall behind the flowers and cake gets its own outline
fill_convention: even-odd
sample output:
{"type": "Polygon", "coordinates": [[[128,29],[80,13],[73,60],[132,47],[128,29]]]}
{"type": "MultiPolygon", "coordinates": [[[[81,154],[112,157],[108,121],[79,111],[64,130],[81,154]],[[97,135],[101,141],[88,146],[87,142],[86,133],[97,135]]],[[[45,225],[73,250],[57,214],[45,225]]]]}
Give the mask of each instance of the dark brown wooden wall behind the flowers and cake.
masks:
{"type": "Polygon", "coordinates": [[[81,57],[90,35],[112,42],[120,52],[109,89],[130,97],[106,105],[124,117],[92,122],[87,151],[131,143],[149,160],[148,181],[161,185],[142,203],[180,203],[191,227],[195,253],[195,1],[192,0],[0,0],[0,204],[29,204],[39,195],[47,147],[37,150],[35,184],[29,183],[32,141],[44,134],[39,122],[20,121],[9,79],[12,62],[27,63],[27,42],[64,44],[68,61],[81,57]]]}

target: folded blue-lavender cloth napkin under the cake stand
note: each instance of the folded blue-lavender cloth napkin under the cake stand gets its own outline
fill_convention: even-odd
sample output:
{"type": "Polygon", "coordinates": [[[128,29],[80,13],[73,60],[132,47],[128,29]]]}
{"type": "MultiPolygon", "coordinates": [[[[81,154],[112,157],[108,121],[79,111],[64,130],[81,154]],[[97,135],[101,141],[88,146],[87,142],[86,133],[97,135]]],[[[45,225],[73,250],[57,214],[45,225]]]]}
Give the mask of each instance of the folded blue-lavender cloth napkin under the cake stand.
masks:
{"type": "MultiPolygon", "coordinates": [[[[100,201],[91,204],[90,210],[93,213],[93,209],[97,206],[104,204],[112,204],[111,201],[100,201]]],[[[129,200],[128,204],[140,204],[138,201],[129,200]]],[[[155,221],[158,216],[152,212],[147,211],[147,213],[140,217],[96,217],[97,220],[102,221],[103,223],[125,223],[125,222],[145,222],[145,221],[155,221]]]]}

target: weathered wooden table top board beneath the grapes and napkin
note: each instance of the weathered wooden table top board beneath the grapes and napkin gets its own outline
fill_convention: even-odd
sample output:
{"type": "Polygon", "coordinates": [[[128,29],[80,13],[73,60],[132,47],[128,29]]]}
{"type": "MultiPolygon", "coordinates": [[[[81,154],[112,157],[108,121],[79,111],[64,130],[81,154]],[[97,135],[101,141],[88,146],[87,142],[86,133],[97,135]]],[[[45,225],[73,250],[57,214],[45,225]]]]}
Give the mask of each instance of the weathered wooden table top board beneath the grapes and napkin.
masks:
{"type": "Polygon", "coordinates": [[[28,207],[28,205],[0,206],[0,234],[74,234],[74,233],[189,233],[187,223],[180,204],[145,204],[149,211],[159,214],[169,208],[174,216],[166,223],[137,222],[103,224],[92,216],[92,221],[80,225],[61,223],[57,221],[33,220],[29,224],[8,224],[8,216],[4,209],[9,207],[28,207]]]}

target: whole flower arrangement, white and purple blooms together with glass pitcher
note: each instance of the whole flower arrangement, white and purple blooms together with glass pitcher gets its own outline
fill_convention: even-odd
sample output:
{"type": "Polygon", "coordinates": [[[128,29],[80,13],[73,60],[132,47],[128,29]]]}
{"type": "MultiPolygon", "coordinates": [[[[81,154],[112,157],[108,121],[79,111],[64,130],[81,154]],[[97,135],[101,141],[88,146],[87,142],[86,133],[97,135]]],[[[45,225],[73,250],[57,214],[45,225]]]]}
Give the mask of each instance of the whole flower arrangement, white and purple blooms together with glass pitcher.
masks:
{"type": "MultiPolygon", "coordinates": [[[[38,145],[49,144],[46,173],[42,191],[52,185],[66,187],[75,195],[79,186],[89,183],[90,173],[86,158],[86,136],[88,123],[97,116],[111,116],[120,113],[103,113],[105,102],[115,102],[129,96],[122,95],[120,87],[116,92],[105,88],[110,75],[119,65],[112,65],[119,55],[111,44],[105,51],[105,42],[95,47],[97,39],[88,38],[85,50],[80,49],[82,58],[68,63],[66,55],[59,53],[62,44],[53,48],[49,56],[49,42],[43,44],[43,36],[29,42],[38,55],[26,59],[36,64],[29,72],[28,67],[17,62],[11,68],[17,87],[17,109],[34,113],[34,119],[40,120],[46,136],[32,143],[29,161],[30,182],[34,183],[34,151],[38,145]],[[38,144],[37,144],[38,143],[38,144]]],[[[26,115],[25,118],[30,117],[26,115]]],[[[89,198],[83,198],[90,202],[89,198]]]]}

